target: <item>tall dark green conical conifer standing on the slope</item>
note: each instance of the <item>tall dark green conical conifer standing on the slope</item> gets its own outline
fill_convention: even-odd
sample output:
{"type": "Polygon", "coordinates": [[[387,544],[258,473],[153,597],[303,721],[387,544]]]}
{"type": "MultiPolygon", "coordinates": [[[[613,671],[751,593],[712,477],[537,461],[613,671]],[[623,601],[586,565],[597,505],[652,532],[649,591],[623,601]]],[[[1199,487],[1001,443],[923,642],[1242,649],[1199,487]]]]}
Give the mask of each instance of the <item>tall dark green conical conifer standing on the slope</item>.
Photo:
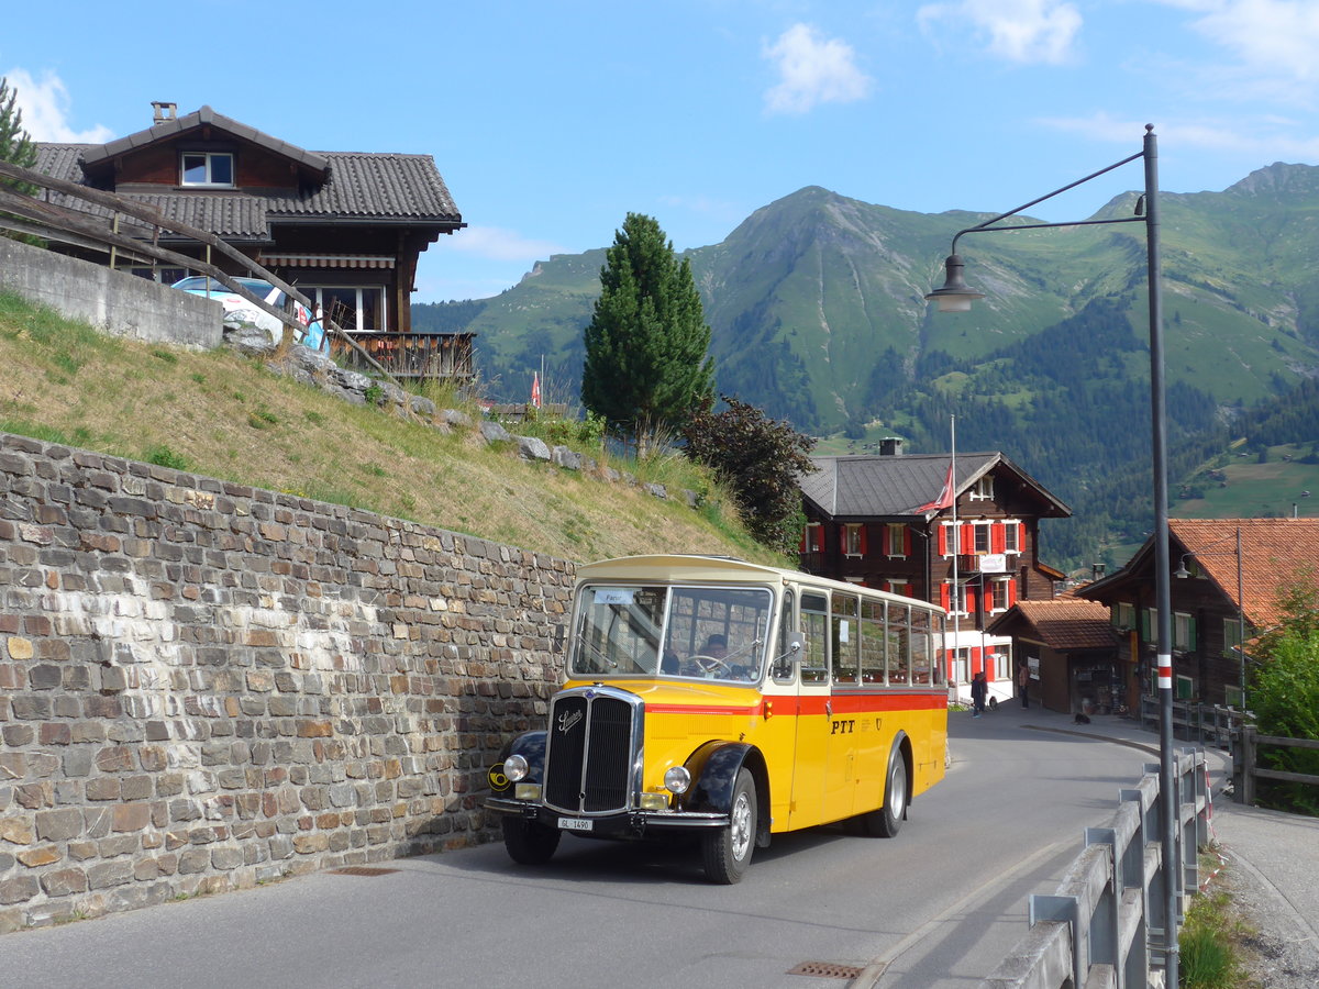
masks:
{"type": "Polygon", "coordinates": [[[691,265],[653,218],[629,212],[615,233],[584,340],[582,402],[638,443],[648,430],[681,430],[714,393],[691,265]]]}

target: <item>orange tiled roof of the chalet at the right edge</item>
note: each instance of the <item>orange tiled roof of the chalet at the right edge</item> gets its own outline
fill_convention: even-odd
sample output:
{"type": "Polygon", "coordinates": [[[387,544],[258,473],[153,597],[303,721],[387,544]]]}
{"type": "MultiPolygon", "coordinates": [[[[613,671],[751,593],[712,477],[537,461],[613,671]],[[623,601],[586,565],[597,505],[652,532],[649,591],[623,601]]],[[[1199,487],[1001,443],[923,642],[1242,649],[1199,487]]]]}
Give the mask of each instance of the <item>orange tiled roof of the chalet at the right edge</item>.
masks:
{"type": "MultiPolygon", "coordinates": [[[[1298,579],[1319,582],[1319,518],[1174,518],[1169,533],[1223,592],[1237,603],[1236,535],[1241,533],[1241,609],[1256,628],[1281,620],[1278,597],[1298,579]]],[[[1181,563],[1174,547],[1170,560],[1181,563]]]]}

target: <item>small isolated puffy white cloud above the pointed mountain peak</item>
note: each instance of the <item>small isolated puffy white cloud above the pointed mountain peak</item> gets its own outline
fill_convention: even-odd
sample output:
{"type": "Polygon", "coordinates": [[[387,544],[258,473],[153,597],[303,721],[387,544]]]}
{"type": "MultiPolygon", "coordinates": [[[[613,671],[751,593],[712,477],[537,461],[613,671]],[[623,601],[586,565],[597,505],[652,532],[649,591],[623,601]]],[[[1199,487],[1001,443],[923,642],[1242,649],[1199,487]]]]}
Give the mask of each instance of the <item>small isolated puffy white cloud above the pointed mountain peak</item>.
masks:
{"type": "Polygon", "coordinates": [[[872,80],[856,67],[852,46],[807,24],[794,24],[761,54],[780,75],[765,92],[766,113],[806,113],[819,103],[852,103],[871,91],[872,80]]]}

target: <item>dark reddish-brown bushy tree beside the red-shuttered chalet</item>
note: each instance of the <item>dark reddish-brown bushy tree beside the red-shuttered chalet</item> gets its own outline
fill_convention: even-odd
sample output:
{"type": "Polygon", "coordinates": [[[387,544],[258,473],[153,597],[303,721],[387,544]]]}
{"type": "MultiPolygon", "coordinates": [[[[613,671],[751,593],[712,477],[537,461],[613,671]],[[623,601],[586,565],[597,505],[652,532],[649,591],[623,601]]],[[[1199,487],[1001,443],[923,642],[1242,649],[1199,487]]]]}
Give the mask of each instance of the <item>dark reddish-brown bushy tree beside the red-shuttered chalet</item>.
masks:
{"type": "Polygon", "coordinates": [[[720,397],[727,410],[712,411],[707,400],[687,422],[687,456],[728,485],[747,530],[758,542],[790,553],[801,530],[797,479],[816,469],[809,456],[814,440],[787,422],[766,418],[753,405],[720,397]]]}

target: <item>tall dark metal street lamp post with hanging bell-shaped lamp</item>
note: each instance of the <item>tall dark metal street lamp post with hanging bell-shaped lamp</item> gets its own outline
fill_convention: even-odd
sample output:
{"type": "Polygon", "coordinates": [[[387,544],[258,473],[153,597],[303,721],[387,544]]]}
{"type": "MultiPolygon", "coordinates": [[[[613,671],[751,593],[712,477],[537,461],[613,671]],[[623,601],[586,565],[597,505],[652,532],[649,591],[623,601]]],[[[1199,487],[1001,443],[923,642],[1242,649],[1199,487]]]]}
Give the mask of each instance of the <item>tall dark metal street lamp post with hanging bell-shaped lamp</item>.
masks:
{"type": "Polygon", "coordinates": [[[1178,985],[1178,887],[1181,885],[1181,862],[1177,854],[1178,807],[1174,793],[1173,756],[1173,609],[1171,609],[1171,568],[1167,547],[1167,407],[1163,388],[1163,286],[1159,258],[1158,220],[1158,138],[1154,125],[1145,127],[1145,140],[1137,154],[1122,158],[1105,169],[1076,179],[1047,195],[1031,199],[1016,210],[1000,214],[975,227],[958,231],[952,237],[952,248],[944,261],[946,281],[943,286],[926,294],[938,305],[940,313],[964,313],[975,299],[984,293],[969,287],[963,277],[963,262],[958,256],[958,240],[967,233],[992,233],[1002,231],[1042,229],[1046,227],[1087,227],[1112,223],[1144,223],[1145,253],[1149,276],[1149,345],[1150,345],[1150,433],[1153,439],[1154,471],[1154,597],[1157,608],[1158,640],[1158,694],[1159,694],[1159,816],[1163,820],[1162,862],[1165,880],[1163,902],[1163,955],[1166,985],[1178,985]],[[1137,158],[1145,162],[1145,195],[1136,203],[1133,216],[1108,220],[1078,220],[1072,223],[1025,223],[997,225],[1001,220],[1021,214],[1037,203],[1053,199],[1055,195],[1084,185],[1093,178],[1120,169],[1137,158]]]}

